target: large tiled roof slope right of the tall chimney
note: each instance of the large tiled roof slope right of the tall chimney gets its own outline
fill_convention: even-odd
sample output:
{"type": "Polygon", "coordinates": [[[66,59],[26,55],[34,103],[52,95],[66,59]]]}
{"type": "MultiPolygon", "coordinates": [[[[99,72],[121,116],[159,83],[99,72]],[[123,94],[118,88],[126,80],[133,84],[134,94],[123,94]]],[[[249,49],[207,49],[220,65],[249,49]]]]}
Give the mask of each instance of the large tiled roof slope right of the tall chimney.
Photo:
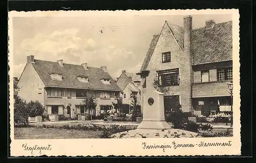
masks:
{"type": "Polygon", "coordinates": [[[232,60],[232,21],[192,31],[194,65],[232,60]]]}

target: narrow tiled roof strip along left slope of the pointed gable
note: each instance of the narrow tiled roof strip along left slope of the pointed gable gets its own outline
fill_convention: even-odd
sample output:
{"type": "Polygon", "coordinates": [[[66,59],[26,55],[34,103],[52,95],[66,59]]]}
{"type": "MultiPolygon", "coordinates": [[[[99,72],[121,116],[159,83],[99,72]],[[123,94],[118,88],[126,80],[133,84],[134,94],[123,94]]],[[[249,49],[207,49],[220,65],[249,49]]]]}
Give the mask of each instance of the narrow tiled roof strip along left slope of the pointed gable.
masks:
{"type": "Polygon", "coordinates": [[[155,47],[157,45],[157,41],[159,39],[159,36],[160,36],[160,34],[153,36],[153,38],[151,40],[150,47],[148,48],[146,56],[145,56],[144,61],[142,63],[141,71],[144,71],[146,69],[148,63],[150,62],[151,56],[153,54],[153,51],[154,51],[154,49],[155,49],[155,47]]]}

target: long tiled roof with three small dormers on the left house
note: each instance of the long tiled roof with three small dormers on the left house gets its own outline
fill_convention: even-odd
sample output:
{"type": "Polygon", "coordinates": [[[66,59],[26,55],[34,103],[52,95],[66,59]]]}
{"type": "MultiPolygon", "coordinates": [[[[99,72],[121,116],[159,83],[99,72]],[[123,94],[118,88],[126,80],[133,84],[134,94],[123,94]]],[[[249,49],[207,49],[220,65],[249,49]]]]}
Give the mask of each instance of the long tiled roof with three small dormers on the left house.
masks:
{"type": "Polygon", "coordinates": [[[101,68],[88,67],[84,69],[80,65],[71,65],[63,63],[61,67],[57,62],[34,60],[31,63],[40,76],[46,87],[65,87],[65,88],[83,88],[121,91],[115,81],[101,68]],[[62,74],[62,80],[53,80],[50,73],[62,74]],[[77,76],[88,76],[89,83],[82,83],[77,76]],[[110,85],[103,84],[101,78],[109,78],[110,85]]]}

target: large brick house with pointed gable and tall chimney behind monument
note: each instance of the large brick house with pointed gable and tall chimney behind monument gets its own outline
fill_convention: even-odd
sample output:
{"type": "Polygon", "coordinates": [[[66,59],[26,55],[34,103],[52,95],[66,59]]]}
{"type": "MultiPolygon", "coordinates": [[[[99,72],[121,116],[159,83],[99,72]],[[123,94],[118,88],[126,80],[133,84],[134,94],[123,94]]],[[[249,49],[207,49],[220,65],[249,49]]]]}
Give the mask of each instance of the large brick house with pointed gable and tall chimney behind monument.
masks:
{"type": "Polygon", "coordinates": [[[154,35],[139,75],[143,92],[164,92],[165,110],[210,115],[230,111],[228,83],[232,80],[232,21],[205,22],[192,29],[192,17],[184,17],[184,26],[165,21],[162,31],[154,35]]]}

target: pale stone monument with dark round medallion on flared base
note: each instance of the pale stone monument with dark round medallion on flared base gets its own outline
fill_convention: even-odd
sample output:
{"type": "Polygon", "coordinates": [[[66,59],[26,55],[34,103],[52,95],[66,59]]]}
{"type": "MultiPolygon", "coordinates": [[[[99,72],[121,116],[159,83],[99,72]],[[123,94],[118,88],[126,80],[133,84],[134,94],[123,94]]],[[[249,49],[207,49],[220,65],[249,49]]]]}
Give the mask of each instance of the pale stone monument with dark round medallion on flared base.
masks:
{"type": "Polygon", "coordinates": [[[164,119],[163,93],[148,90],[143,95],[143,119],[137,129],[169,129],[164,119]]]}

